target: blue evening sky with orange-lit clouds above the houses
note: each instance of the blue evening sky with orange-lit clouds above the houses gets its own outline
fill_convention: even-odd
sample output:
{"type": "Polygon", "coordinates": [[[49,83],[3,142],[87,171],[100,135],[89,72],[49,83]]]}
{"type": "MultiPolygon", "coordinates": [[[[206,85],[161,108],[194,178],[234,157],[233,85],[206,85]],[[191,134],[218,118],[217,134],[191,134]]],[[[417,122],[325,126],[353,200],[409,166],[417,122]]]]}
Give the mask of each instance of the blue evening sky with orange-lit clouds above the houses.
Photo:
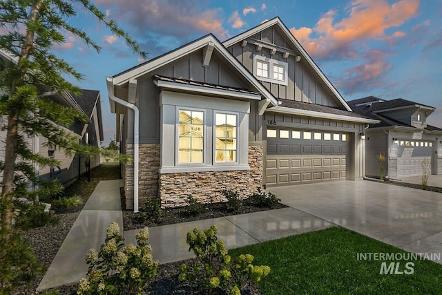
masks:
{"type": "MultiPolygon", "coordinates": [[[[211,32],[224,41],[280,17],[345,100],[369,95],[436,107],[442,128],[442,0],[93,0],[153,59],[211,32]]],[[[74,36],[55,48],[80,73],[80,88],[101,92],[104,146],[115,135],[106,76],[144,61],[93,17],[69,19],[102,46],[74,36]]]]}

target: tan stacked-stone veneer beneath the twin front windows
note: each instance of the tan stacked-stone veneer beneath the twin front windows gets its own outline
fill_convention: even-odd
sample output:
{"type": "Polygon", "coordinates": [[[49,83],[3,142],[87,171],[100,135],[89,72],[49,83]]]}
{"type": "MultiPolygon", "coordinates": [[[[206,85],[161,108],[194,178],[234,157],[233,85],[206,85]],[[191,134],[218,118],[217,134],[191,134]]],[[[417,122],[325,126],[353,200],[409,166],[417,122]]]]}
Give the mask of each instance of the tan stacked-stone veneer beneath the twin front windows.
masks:
{"type": "Polygon", "coordinates": [[[250,170],[166,173],[160,175],[159,191],[163,208],[186,205],[193,196],[199,202],[222,202],[220,191],[233,189],[247,198],[262,187],[263,146],[249,146],[250,170]]]}

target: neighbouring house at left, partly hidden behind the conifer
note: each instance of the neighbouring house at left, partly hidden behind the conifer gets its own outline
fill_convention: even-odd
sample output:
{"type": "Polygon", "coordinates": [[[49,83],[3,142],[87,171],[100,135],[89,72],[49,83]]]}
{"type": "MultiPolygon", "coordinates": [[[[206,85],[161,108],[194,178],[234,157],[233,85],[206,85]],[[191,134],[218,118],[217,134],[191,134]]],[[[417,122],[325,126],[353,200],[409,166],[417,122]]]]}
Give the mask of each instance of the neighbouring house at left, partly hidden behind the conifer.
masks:
{"type": "MultiPolygon", "coordinates": [[[[0,61],[8,60],[17,62],[17,59],[0,50],[0,61]]],[[[103,140],[102,110],[100,105],[99,91],[81,89],[81,95],[73,96],[70,93],[61,93],[48,96],[55,102],[75,108],[80,113],[84,113],[88,118],[88,123],[76,122],[73,126],[63,127],[66,131],[78,137],[79,142],[100,146],[103,140]]],[[[6,116],[0,118],[0,141],[6,140],[6,116]]],[[[80,155],[66,155],[62,149],[57,146],[46,145],[47,140],[41,136],[28,137],[28,146],[33,153],[39,153],[45,157],[52,156],[59,160],[59,166],[39,167],[35,169],[41,178],[57,178],[61,183],[68,186],[77,180],[81,173],[87,171],[86,158],[80,155]]],[[[0,144],[0,160],[4,160],[5,144],[0,144]]],[[[99,155],[90,158],[90,168],[98,166],[100,162],[99,155]]],[[[0,176],[1,178],[1,176],[0,176]]]]}

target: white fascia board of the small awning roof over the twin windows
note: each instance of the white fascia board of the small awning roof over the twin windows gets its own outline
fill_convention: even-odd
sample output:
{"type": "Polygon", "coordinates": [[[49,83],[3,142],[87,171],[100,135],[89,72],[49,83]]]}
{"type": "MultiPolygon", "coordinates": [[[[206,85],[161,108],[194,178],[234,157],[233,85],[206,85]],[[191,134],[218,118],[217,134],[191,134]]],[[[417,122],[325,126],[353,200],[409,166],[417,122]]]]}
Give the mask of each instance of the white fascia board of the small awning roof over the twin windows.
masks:
{"type": "Polygon", "coordinates": [[[193,91],[195,93],[204,93],[209,95],[223,95],[233,98],[261,100],[261,95],[252,93],[239,93],[237,91],[229,91],[227,89],[208,88],[198,85],[188,85],[169,81],[154,81],[158,87],[175,89],[180,91],[193,91]]]}

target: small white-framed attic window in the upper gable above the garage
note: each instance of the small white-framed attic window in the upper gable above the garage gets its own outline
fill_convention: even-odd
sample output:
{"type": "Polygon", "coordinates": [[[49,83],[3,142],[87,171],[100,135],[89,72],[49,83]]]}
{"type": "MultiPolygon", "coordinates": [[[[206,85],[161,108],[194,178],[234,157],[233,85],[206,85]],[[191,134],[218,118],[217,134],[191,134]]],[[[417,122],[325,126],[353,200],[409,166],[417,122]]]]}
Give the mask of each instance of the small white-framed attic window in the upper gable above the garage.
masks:
{"type": "Polygon", "coordinates": [[[260,81],[287,86],[288,64],[268,57],[253,57],[253,74],[260,81]]]}

